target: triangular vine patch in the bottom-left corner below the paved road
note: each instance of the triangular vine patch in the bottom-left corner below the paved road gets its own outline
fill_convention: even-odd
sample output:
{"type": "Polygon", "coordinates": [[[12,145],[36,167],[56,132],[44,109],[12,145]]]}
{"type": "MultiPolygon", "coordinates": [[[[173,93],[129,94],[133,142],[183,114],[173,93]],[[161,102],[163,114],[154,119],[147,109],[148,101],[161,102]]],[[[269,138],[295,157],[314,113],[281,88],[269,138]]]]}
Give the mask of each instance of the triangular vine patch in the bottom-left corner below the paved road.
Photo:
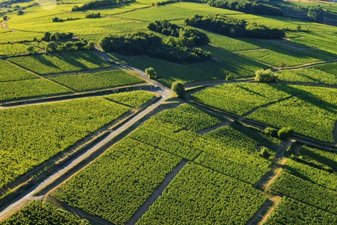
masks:
{"type": "Polygon", "coordinates": [[[90,225],[68,212],[42,201],[31,201],[18,212],[0,222],[0,225],[90,225]]]}

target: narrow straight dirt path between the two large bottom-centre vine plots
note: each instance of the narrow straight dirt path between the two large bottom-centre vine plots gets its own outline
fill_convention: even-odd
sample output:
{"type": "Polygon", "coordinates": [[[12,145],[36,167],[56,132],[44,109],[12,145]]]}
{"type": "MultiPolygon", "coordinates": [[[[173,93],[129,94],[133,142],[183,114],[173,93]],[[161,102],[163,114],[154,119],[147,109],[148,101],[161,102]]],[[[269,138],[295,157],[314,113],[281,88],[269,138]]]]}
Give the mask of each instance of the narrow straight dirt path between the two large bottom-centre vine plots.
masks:
{"type": "Polygon", "coordinates": [[[181,160],[180,163],[172,170],[171,173],[165,176],[164,181],[154,189],[152,195],[143,203],[141,207],[138,208],[135,214],[126,222],[124,225],[135,224],[150,208],[150,206],[157,200],[159,196],[163,193],[165,188],[171,183],[171,181],[176,177],[180,170],[186,165],[186,160],[181,160]]]}

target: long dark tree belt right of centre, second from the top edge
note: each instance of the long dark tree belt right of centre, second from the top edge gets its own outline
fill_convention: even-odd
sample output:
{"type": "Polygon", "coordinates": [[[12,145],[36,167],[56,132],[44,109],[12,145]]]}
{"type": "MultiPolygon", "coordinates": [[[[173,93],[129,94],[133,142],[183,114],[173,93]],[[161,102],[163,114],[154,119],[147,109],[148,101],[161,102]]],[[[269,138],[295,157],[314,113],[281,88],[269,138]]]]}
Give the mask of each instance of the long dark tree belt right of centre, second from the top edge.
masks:
{"type": "Polygon", "coordinates": [[[282,39],[285,37],[285,32],[281,29],[269,28],[256,23],[247,23],[245,20],[227,17],[220,14],[208,17],[194,15],[189,19],[186,19],[185,23],[190,26],[232,37],[259,39],[282,39]]]}

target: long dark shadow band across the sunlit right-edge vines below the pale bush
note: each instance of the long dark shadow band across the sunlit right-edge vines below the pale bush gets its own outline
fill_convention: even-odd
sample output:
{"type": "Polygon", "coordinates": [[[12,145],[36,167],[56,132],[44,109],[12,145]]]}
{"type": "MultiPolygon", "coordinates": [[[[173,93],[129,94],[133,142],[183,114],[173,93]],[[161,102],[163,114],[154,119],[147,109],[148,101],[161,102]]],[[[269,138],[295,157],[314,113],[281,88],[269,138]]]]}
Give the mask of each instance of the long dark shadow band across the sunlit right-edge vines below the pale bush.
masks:
{"type": "Polygon", "coordinates": [[[293,95],[307,103],[313,104],[321,109],[325,109],[334,114],[337,113],[337,106],[318,98],[316,95],[289,85],[273,85],[277,90],[293,95]]]}

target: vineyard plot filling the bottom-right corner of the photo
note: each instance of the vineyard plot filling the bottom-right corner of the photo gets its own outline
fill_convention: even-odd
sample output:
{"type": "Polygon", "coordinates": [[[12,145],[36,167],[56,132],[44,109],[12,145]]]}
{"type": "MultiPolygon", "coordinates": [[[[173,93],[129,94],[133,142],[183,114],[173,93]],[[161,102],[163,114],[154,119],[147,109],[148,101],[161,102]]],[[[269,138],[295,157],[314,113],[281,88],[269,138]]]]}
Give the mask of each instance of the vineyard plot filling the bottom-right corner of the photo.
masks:
{"type": "Polygon", "coordinates": [[[264,225],[332,225],[337,216],[316,207],[283,197],[264,225]]]}

